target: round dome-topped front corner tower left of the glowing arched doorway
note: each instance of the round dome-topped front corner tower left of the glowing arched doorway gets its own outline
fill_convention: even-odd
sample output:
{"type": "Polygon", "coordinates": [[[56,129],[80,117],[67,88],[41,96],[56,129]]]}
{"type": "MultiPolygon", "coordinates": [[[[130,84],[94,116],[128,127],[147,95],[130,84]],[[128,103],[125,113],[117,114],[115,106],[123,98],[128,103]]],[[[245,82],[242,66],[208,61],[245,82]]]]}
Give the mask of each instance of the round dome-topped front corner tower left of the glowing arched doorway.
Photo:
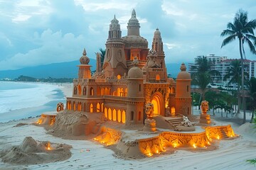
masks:
{"type": "Polygon", "coordinates": [[[137,67],[139,61],[135,57],[132,62],[134,67],[128,72],[128,94],[127,94],[127,112],[126,124],[143,123],[143,107],[144,107],[144,85],[142,69],[137,67]]]}

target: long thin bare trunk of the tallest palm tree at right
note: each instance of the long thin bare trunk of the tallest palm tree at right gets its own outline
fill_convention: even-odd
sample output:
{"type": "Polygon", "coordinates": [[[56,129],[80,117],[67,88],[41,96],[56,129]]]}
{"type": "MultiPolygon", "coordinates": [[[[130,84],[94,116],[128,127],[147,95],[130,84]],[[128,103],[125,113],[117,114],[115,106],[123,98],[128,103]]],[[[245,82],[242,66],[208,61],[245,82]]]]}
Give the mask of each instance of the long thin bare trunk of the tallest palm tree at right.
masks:
{"type": "Polygon", "coordinates": [[[242,57],[242,38],[239,38],[239,51],[240,51],[240,57],[241,57],[241,66],[242,66],[242,110],[243,110],[243,119],[242,119],[242,123],[245,123],[246,120],[246,114],[245,114],[245,89],[244,89],[244,85],[245,85],[245,79],[244,79],[244,60],[242,57]]]}

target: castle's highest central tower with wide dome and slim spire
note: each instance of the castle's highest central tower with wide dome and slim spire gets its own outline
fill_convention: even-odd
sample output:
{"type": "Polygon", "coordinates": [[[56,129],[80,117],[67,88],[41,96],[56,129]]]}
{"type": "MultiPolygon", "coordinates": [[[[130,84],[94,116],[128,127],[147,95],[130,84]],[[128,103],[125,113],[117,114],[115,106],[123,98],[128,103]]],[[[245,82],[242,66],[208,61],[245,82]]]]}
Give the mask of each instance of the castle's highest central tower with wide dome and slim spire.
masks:
{"type": "Polygon", "coordinates": [[[127,23],[127,36],[124,36],[124,52],[127,60],[128,69],[132,68],[132,60],[137,57],[139,60],[139,68],[142,68],[146,63],[146,56],[149,52],[148,42],[145,38],[139,35],[139,21],[136,18],[136,12],[132,10],[132,18],[127,23]]]}

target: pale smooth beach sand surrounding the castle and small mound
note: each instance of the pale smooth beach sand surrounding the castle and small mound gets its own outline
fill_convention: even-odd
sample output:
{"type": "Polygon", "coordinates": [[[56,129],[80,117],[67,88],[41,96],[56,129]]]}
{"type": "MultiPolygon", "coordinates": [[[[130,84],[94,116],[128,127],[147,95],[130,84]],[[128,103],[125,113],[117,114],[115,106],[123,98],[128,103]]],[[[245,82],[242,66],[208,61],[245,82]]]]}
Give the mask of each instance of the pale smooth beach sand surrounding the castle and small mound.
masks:
{"type": "MultiPolygon", "coordinates": [[[[71,96],[70,84],[62,84],[60,89],[65,96],[71,96]]],[[[39,142],[70,145],[71,157],[64,161],[23,165],[8,164],[1,160],[0,169],[255,169],[254,165],[246,162],[247,159],[256,158],[256,130],[250,123],[238,125],[229,122],[230,119],[218,118],[218,125],[232,125],[239,137],[215,141],[218,148],[213,151],[177,148],[173,154],[162,152],[153,157],[128,160],[117,157],[112,149],[94,140],[63,140],[49,135],[43,127],[32,124],[37,120],[30,118],[0,123],[0,149],[10,149],[21,145],[25,137],[33,137],[39,142]]]]}

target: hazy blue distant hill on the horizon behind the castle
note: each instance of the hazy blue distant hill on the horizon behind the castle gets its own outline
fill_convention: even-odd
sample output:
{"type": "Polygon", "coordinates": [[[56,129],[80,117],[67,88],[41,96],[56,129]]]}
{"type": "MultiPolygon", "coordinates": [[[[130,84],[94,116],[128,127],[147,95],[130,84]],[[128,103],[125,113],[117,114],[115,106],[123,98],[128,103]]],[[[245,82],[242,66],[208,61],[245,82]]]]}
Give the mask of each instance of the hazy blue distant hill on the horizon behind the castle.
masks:
{"type": "MultiPolygon", "coordinates": [[[[80,64],[79,60],[73,62],[60,62],[53,64],[40,65],[36,67],[26,67],[23,69],[16,70],[4,70],[0,71],[0,79],[10,78],[15,79],[20,77],[21,75],[27,77],[35,77],[35,78],[77,78],[78,77],[78,65],[80,64]]],[[[96,69],[96,60],[90,59],[89,63],[91,67],[91,71],[96,69]]],[[[185,63],[186,64],[186,63],[185,63]]],[[[180,72],[181,64],[176,63],[168,63],[166,64],[167,73],[171,75],[171,77],[176,78],[178,72],[180,72]]],[[[186,64],[188,68],[188,64],[186,64]]],[[[187,69],[188,70],[188,69],[187,69]]]]}

